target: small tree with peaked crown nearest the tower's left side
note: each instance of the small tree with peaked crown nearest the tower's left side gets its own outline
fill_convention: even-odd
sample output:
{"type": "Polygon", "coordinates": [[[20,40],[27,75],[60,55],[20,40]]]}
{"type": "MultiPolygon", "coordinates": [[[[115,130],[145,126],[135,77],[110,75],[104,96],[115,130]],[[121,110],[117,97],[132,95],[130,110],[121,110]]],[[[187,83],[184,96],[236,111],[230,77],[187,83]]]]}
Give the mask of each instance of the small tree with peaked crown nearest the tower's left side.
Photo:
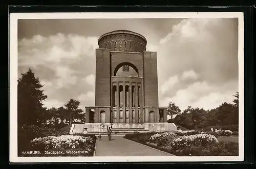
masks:
{"type": "Polygon", "coordinates": [[[65,104],[65,121],[67,124],[72,124],[77,120],[81,120],[83,116],[83,110],[79,109],[80,102],[78,100],[70,99],[68,103],[65,104]]]}

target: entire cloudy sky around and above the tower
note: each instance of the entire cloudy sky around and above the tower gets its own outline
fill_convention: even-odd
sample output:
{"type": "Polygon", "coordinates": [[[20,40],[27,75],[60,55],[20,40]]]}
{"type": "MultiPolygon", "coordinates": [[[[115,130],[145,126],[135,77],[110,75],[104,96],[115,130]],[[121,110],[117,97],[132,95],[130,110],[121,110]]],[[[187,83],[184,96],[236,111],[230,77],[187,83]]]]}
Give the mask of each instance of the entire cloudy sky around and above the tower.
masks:
{"type": "Polygon", "coordinates": [[[114,30],[140,33],[157,51],[159,106],[211,109],[238,92],[237,18],[18,20],[18,75],[34,71],[49,108],[95,105],[97,39],[114,30]]]}

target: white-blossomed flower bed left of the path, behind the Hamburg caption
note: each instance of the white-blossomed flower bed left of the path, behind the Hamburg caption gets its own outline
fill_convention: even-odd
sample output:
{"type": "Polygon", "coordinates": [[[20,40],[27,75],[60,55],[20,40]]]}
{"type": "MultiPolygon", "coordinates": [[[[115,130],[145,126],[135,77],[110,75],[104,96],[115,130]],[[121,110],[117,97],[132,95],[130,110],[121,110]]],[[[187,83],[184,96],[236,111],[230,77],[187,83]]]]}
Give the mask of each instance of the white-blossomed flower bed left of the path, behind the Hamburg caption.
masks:
{"type": "Polygon", "coordinates": [[[18,156],[93,156],[96,139],[92,134],[37,137],[18,156]]]}

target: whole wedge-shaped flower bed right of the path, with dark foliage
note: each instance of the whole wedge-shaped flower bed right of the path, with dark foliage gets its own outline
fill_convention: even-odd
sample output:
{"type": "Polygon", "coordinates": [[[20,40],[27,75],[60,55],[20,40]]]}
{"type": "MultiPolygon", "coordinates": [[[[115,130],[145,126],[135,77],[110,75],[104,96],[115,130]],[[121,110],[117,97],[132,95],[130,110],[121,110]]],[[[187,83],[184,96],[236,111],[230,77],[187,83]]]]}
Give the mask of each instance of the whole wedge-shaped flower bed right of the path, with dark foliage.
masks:
{"type": "Polygon", "coordinates": [[[177,156],[238,156],[238,143],[218,142],[214,135],[194,133],[126,134],[124,138],[177,156]]]}

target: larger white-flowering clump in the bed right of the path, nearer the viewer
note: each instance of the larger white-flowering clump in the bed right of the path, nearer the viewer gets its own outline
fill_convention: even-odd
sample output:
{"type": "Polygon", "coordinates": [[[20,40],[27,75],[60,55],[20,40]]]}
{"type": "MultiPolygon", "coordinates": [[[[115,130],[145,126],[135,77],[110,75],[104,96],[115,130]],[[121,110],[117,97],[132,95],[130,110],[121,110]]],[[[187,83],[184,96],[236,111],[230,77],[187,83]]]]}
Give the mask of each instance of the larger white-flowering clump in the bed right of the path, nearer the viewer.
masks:
{"type": "Polygon", "coordinates": [[[193,145],[206,146],[206,145],[211,145],[216,143],[218,143],[218,140],[214,135],[196,134],[196,135],[188,135],[188,136],[185,135],[185,136],[177,137],[173,139],[173,141],[170,142],[169,145],[172,146],[174,150],[178,150],[178,149],[184,149],[187,146],[193,146],[193,145]]]}

